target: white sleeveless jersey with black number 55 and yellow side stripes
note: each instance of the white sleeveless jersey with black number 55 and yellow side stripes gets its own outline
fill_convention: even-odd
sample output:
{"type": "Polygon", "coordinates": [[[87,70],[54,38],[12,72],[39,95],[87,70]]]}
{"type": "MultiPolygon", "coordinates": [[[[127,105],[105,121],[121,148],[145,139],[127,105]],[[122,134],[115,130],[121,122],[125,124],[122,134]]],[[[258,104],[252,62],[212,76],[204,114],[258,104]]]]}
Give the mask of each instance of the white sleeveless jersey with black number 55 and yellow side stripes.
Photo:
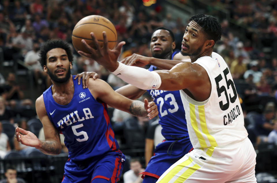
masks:
{"type": "Polygon", "coordinates": [[[198,102],[180,90],[186,111],[188,133],[194,148],[225,146],[248,136],[235,85],[224,59],[217,53],[200,57],[199,64],[212,83],[210,97],[198,102]]]}

